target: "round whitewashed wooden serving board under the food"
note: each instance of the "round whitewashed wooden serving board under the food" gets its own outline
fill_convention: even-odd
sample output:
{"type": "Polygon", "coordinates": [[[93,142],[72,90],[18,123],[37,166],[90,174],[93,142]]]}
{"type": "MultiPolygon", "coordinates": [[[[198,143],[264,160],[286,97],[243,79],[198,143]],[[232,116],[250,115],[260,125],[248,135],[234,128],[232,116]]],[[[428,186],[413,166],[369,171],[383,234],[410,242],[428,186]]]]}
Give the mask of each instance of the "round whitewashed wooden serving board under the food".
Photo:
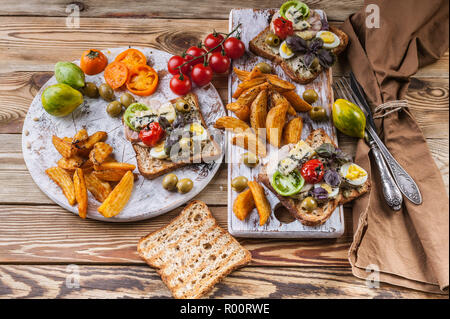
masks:
{"type": "MultiPolygon", "coordinates": [[[[103,53],[107,56],[108,61],[111,62],[120,52],[128,48],[113,48],[104,50],[103,53]]],[[[175,98],[176,95],[169,88],[169,81],[172,75],[166,71],[167,61],[171,55],[151,48],[136,49],[145,54],[147,63],[159,75],[157,91],[148,97],[135,96],[136,100],[146,103],[152,99],[164,102],[175,98]]],[[[78,61],[75,63],[79,64],[78,61]]],[[[94,82],[99,86],[105,82],[103,72],[94,76],[86,76],[86,81],[94,82]]],[[[86,128],[89,134],[96,131],[106,131],[108,133],[106,142],[114,148],[113,154],[118,161],[136,165],[135,152],[131,143],[125,139],[121,118],[109,117],[106,113],[108,102],[101,98],[90,99],[85,97],[81,106],[71,115],[63,118],[47,114],[42,108],[41,93],[46,87],[55,83],[56,79],[52,77],[36,94],[31,103],[23,126],[22,151],[28,170],[38,187],[55,203],[78,214],[77,206],[70,206],[61,189],[45,174],[45,170],[56,166],[56,162],[61,158],[61,155],[52,145],[52,135],[72,137],[81,128],[86,128]]],[[[200,108],[208,127],[212,127],[217,118],[225,115],[225,109],[219,94],[212,84],[203,88],[194,88],[193,92],[198,95],[200,108]]],[[[116,98],[118,99],[121,94],[123,92],[116,92],[116,98]]],[[[224,138],[220,134],[220,132],[215,132],[215,139],[223,150],[224,138]]],[[[223,153],[216,162],[188,165],[174,172],[178,178],[187,177],[194,182],[194,188],[184,195],[163,189],[161,186],[163,176],[154,180],[148,180],[139,175],[135,181],[133,193],[128,204],[120,214],[112,218],[105,218],[97,212],[100,203],[88,192],[87,217],[108,222],[127,222],[143,220],[171,211],[191,200],[208,185],[219,169],[223,153]]],[[[135,172],[138,173],[137,168],[135,172]]]]}

